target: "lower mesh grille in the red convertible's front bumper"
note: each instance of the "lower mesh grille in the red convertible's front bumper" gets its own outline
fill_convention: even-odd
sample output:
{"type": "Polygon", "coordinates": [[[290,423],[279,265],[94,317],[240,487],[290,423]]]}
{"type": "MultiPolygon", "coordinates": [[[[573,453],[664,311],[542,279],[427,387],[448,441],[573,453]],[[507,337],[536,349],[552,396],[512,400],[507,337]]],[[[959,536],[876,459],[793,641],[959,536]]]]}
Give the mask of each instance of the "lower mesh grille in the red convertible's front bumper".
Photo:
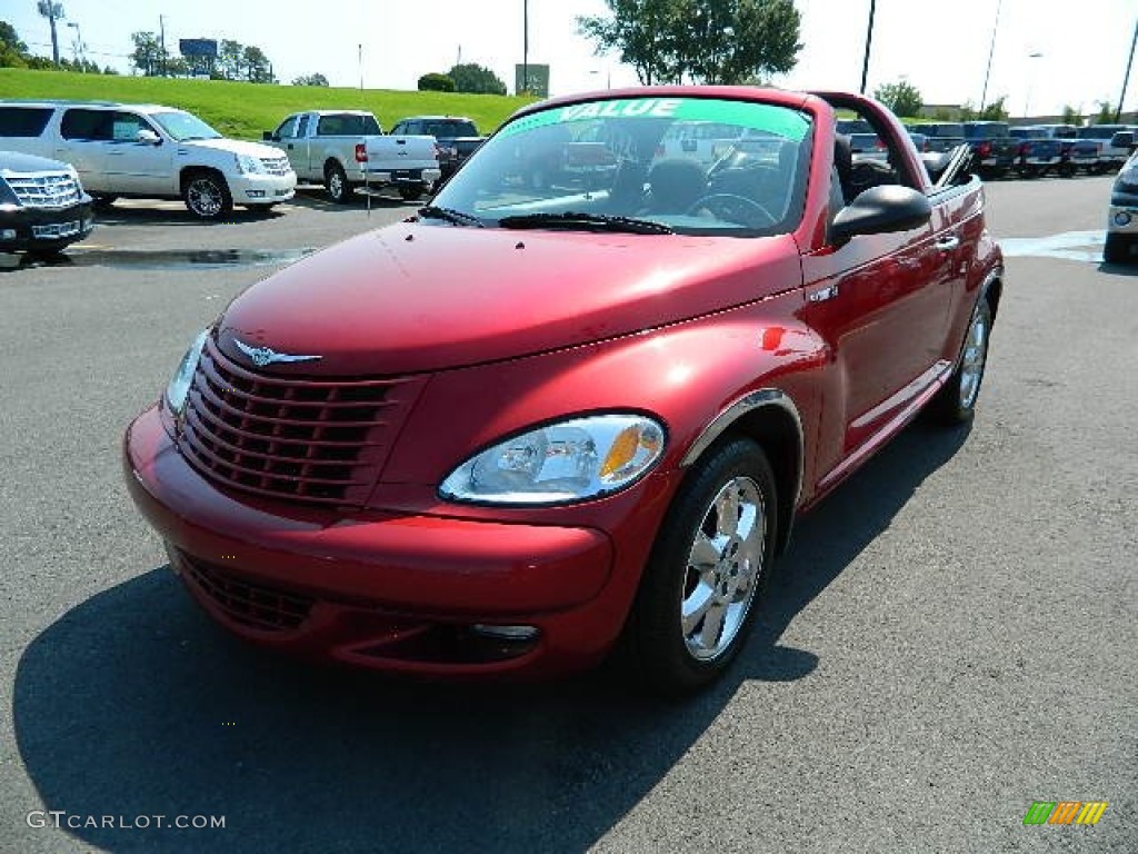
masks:
{"type": "Polygon", "coordinates": [[[316,600],[233,575],[228,569],[182,555],[182,568],[193,585],[230,619],[250,629],[283,632],[298,629],[316,600]]]}

